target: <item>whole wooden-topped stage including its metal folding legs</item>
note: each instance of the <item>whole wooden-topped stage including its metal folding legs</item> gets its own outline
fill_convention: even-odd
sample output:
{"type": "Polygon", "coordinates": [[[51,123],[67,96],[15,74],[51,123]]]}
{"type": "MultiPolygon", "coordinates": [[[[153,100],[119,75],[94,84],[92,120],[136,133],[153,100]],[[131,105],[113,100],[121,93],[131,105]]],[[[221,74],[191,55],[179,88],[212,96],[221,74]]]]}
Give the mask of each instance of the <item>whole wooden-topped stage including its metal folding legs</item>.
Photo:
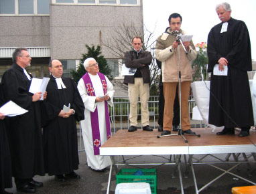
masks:
{"type": "MultiPolygon", "coordinates": [[[[196,134],[200,134],[201,136],[188,136],[185,135],[188,142],[184,142],[182,136],[164,136],[161,138],[157,138],[161,134],[157,129],[154,129],[152,132],[137,130],[135,132],[128,132],[128,130],[118,130],[113,136],[105,142],[100,148],[100,155],[111,156],[111,160],[115,167],[115,171],[117,172],[117,165],[121,165],[122,163],[126,164],[125,159],[119,163],[119,161],[115,161],[114,156],[125,156],[125,155],[175,155],[176,162],[170,163],[172,165],[176,165],[176,168],[179,173],[180,178],[180,187],[182,193],[183,191],[183,183],[182,183],[182,175],[181,175],[181,165],[180,165],[180,157],[182,155],[189,155],[188,162],[186,164],[186,172],[188,168],[191,168],[193,179],[194,179],[194,187],[196,193],[199,193],[204,188],[208,187],[211,183],[216,181],[216,179],[220,179],[223,175],[230,173],[234,176],[237,176],[230,171],[235,167],[238,167],[241,163],[250,163],[248,161],[247,155],[245,153],[250,153],[249,157],[256,161],[256,130],[250,130],[250,136],[247,137],[239,137],[239,130],[236,130],[234,135],[223,135],[216,136],[216,132],[220,130],[214,130],[212,132],[212,128],[193,128],[192,129],[196,134]],[[243,155],[243,159],[239,160],[239,155],[243,155]],[[220,161],[219,163],[205,163],[204,157],[213,156],[217,154],[226,154],[227,161],[220,161]],[[201,159],[194,158],[194,155],[202,155],[201,159]],[[205,156],[204,156],[205,155],[205,156]],[[229,162],[229,157],[233,156],[234,162],[229,162]],[[228,170],[221,169],[220,167],[216,167],[216,164],[229,163],[234,164],[228,170]],[[194,165],[210,165],[219,169],[220,171],[224,171],[220,176],[216,177],[201,189],[198,189],[196,183],[196,174],[194,172],[194,165]]],[[[177,132],[176,132],[177,133],[177,132]]],[[[172,132],[174,134],[174,132],[172,132]]],[[[216,158],[216,157],[215,157],[216,158]]],[[[145,161],[145,163],[147,163],[145,161]]],[[[129,164],[127,164],[129,165],[129,164]]],[[[150,164],[147,164],[150,165],[150,164]]],[[[155,164],[153,164],[155,165],[155,164]]],[[[161,165],[161,164],[159,164],[161,165]]],[[[176,171],[176,170],[174,170],[176,171]]],[[[111,182],[111,173],[112,173],[112,165],[109,173],[109,184],[107,193],[109,192],[109,186],[111,182]]],[[[238,177],[238,176],[237,176],[238,177]]],[[[239,177],[249,183],[256,185],[243,177],[239,177]]]]}

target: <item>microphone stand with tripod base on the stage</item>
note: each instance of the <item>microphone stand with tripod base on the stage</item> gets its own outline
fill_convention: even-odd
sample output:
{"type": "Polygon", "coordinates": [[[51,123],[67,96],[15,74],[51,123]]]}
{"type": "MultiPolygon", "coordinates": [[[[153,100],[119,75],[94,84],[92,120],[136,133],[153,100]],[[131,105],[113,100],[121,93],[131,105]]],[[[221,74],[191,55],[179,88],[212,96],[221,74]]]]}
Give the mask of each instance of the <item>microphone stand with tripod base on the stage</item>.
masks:
{"type": "MultiPolygon", "coordinates": [[[[188,51],[186,50],[186,47],[184,46],[183,42],[182,42],[182,38],[180,37],[179,33],[176,33],[176,41],[178,41],[178,56],[179,56],[179,94],[180,94],[180,128],[178,130],[178,134],[166,134],[166,135],[159,135],[157,136],[157,138],[160,137],[164,137],[164,136],[176,136],[176,135],[180,135],[182,136],[184,142],[188,142],[188,140],[186,139],[186,137],[184,136],[184,132],[182,130],[182,90],[181,90],[181,84],[182,84],[182,74],[180,71],[180,45],[182,45],[184,52],[186,53],[186,55],[188,55],[188,51]]],[[[191,135],[191,136],[198,136],[200,137],[200,134],[186,134],[186,135],[191,135]]]]}

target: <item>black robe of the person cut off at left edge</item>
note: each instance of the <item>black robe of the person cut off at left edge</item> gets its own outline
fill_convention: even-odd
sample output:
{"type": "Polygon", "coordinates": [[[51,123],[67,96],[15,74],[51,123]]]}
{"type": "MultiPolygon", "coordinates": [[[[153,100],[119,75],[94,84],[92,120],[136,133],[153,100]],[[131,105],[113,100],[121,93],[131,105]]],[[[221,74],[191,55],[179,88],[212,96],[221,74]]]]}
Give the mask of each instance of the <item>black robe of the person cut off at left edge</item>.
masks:
{"type": "MultiPolygon", "coordinates": [[[[5,100],[3,98],[2,86],[0,84],[0,107],[3,106],[4,103],[5,100]]],[[[11,155],[5,131],[5,124],[3,120],[0,120],[0,193],[2,193],[5,188],[11,187],[11,155]]]]}

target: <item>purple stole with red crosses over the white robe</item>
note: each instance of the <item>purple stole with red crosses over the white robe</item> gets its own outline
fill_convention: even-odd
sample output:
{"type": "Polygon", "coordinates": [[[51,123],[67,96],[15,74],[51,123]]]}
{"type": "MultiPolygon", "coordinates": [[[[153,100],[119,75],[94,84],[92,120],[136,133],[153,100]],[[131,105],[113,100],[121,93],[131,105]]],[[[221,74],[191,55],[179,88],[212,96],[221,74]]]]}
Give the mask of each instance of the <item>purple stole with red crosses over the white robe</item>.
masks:
{"type": "MultiPolygon", "coordinates": [[[[105,76],[101,73],[98,73],[98,76],[101,79],[101,83],[103,84],[103,91],[104,95],[107,94],[107,80],[105,76]]],[[[86,92],[88,96],[95,96],[94,88],[92,85],[92,81],[90,80],[90,76],[88,73],[82,76],[82,80],[84,80],[84,86],[86,88],[86,92]]],[[[106,128],[107,128],[107,139],[111,138],[111,127],[109,121],[109,106],[107,101],[105,103],[105,118],[106,118],[106,128]]],[[[92,124],[92,142],[93,142],[93,150],[94,155],[100,154],[100,147],[101,147],[101,135],[100,135],[100,128],[99,128],[99,118],[98,118],[98,109],[96,107],[94,112],[90,112],[90,122],[92,124]]]]}

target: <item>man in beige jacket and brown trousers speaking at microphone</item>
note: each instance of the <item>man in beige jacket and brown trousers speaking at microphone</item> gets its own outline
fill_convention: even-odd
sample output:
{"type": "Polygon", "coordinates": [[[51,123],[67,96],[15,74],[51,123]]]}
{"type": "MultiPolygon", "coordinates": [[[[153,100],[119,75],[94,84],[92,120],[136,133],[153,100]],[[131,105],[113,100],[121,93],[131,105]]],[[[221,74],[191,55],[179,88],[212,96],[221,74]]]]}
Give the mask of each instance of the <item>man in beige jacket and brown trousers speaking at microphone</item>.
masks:
{"type": "MultiPolygon", "coordinates": [[[[196,50],[192,41],[184,41],[184,48],[180,45],[180,66],[177,33],[184,34],[180,29],[182,17],[178,13],[172,13],[169,19],[170,28],[160,35],[156,42],[156,58],[162,62],[162,81],[164,83],[164,130],[162,135],[171,134],[172,119],[174,109],[174,98],[176,86],[179,82],[179,70],[181,72],[181,100],[182,100],[182,130],[184,134],[195,134],[190,130],[188,98],[190,94],[190,84],[192,81],[192,68],[190,61],[196,58],[196,50]]],[[[179,87],[178,87],[179,88],[179,87]]],[[[180,93],[180,92],[179,92],[180,93]]]]}

